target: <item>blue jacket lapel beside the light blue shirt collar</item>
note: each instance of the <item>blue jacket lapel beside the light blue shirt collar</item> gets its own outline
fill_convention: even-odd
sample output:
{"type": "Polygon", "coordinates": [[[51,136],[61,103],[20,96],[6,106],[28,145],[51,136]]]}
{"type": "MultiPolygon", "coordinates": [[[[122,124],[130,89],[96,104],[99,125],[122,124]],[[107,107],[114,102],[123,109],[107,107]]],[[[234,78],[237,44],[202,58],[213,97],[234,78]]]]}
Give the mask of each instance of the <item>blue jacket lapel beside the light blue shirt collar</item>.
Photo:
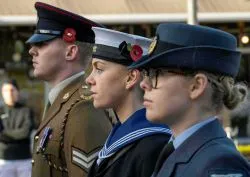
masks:
{"type": "Polygon", "coordinates": [[[187,163],[204,144],[221,137],[226,137],[226,133],[218,119],[208,123],[191,135],[166,159],[157,177],[170,177],[179,163],[187,163]]]}

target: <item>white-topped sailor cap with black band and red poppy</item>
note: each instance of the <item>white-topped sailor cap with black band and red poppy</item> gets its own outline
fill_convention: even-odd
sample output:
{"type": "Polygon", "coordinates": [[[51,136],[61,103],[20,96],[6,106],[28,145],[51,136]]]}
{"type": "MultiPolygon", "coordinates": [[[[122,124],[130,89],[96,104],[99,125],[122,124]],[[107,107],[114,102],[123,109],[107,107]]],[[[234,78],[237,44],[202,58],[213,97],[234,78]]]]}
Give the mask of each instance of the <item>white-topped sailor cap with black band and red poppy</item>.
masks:
{"type": "Polygon", "coordinates": [[[147,54],[151,39],[111,29],[92,27],[95,33],[93,58],[125,66],[147,54]]]}

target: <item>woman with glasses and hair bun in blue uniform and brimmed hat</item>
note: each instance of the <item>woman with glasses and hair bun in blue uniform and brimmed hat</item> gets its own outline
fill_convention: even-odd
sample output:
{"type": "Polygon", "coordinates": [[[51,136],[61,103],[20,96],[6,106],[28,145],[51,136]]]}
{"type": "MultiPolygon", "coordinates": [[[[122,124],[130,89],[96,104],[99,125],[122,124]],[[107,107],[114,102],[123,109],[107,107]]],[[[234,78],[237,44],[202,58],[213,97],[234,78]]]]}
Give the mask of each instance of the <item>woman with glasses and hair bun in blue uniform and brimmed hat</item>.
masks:
{"type": "Polygon", "coordinates": [[[178,23],[160,24],[156,36],[148,56],[129,67],[143,69],[147,118],[173,131],[152,176],[249,177],[249,164],[218,120],[247,93],[233,79],[240,66],[235,37],[178,23]]]}

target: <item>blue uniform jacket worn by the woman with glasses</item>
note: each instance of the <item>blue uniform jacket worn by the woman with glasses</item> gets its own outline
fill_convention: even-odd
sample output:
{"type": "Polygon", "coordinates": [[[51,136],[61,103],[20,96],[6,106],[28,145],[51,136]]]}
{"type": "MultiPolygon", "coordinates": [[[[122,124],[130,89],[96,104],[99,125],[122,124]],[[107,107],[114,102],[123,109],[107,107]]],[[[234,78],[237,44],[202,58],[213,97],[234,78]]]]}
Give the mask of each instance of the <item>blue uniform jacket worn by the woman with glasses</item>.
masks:
{"type": "Polygon", "coordinates": [[[157,177],[250,177],[250,165],[216,119],[191,135],[164,162],[157,177]]]}

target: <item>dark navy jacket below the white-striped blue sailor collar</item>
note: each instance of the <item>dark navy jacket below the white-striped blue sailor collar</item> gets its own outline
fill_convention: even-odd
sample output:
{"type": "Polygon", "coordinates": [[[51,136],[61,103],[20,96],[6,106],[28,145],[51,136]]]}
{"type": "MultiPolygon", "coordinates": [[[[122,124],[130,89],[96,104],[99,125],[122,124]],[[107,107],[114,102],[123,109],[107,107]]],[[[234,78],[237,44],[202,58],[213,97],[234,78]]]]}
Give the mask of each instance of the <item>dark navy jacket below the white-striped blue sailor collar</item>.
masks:
{"type": "Polygon", "coordinates": [[[103,160],[100,166],[95,161],[88,177],[150,177],[157,157],[169,138],[167,134],[155,134],[139,139],[128,145],[126,151],[103,160]]]}

